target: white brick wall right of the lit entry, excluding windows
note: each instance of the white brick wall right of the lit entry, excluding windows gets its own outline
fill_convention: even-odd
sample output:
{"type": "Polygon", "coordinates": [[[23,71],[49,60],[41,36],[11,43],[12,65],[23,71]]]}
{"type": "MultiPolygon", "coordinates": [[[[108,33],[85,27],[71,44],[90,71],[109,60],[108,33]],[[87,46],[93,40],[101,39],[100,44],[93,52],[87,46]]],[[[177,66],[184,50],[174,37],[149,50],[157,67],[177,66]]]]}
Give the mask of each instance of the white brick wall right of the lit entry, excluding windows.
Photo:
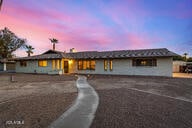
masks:
{"type": "MultiPolygon", "coordinates": [[[[172,58],[157,58],[157,66],[132,66],[131,59],[113,59],[113,70],[104,71],[104,60],[96,60],[95,70],[77,70],[80,74],[172,76],[172,58]]],[[[108,65],[109,67],[109,65],[108,65]]]]}

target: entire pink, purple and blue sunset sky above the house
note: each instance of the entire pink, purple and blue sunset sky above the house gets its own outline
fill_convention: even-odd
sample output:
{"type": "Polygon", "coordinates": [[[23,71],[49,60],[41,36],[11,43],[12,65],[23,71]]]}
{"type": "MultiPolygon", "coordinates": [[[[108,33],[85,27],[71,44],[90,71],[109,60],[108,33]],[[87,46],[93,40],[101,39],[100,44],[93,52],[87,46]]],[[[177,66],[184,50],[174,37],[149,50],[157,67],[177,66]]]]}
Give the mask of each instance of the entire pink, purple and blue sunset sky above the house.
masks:
{"type": "Polygon", "coordinates": [[[4,0],[4,27],[27,39],[33,55],[56,38],[59,51],[168,48],[192,56],[192,0],[4,0]]]}

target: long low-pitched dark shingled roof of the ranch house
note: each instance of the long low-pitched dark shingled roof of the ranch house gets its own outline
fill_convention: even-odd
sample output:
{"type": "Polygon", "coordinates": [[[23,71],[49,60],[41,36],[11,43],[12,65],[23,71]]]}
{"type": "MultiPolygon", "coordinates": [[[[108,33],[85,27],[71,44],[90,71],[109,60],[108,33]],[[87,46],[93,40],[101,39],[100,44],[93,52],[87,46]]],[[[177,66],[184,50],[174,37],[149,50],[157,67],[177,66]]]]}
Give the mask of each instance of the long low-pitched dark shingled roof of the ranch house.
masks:
{"type": "Polygon", "coordinates": [[[105,58],[138,58],[138,57],[173,57],[176,53],[166,48],[141,49],[141,50],[118,50],[118,51],[84,51],[75,53],[64,53],[48,50],[47,52],[30,57],[17,58],[16,60],[39,60],[39,59],[105,59],[105,58]]]}

